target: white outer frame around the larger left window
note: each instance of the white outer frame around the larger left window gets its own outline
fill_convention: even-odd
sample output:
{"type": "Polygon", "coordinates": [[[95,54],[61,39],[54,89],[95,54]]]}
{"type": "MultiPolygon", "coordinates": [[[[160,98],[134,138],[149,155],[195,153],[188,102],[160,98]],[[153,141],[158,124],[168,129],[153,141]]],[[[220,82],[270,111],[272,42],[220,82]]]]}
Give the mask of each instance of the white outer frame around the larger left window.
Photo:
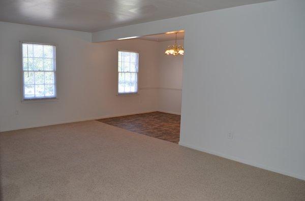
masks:
{"type": "Polygon", "coordinates": [[[28,41],[19,41],[19,49],[20,49],[20,74],[21,74],[21,101],[48,101],[48,100],[56,100],[58,99],[57,96],[57,45],[55,44],[47,44],[47,43],[36,43],[36,42],[28,42],[28,41]],[[48,45],[48,46],[54,46],[54,58],[53,63],[55,64],[55,70],[54,70],[54,97],[42,97],[42,98],[24,98],[24,70],[23,70],[23,52],[22,52],[22,44],[33,44],[33,45],[48,45]],[[54,62],[55,60],[55,62],[54,62]]]}

